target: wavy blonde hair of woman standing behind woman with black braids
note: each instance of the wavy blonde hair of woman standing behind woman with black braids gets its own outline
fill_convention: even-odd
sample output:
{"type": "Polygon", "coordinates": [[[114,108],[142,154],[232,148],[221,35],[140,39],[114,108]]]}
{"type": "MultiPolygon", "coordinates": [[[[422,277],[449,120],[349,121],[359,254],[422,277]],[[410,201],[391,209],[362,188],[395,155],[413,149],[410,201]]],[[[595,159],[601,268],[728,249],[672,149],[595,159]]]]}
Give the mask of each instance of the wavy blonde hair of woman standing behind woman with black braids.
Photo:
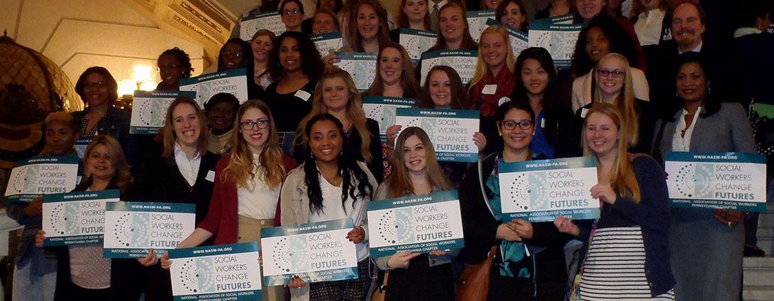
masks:
{"type": "Polygon", "coordinates": [[[293,141],[293,145],[307,145],[309,137],[307,137],[307,133],[304,132],[304,129],[307,128],[307,123],[314,115],[328,112],[328,108],[325,106],[325,101],[323,101],[323,83],[325,80],[334,77],[341,78],[344,80],[344,83],[347,84],[349,101],[347,102],[347,111],[344,114],[347,115],[347,118],[352,123],[352,126],[354,126],[354,128],[358,131],[358,135],[360,135],[360,139],[362,141],[360,145],[360,152],[363,156],[363,159],[365,159],[366,162],[371,162],[373,160],[373,156],[371,156],[371,150],[369,148],[371,147],[372,135],[371,132],[368,132],[368,128],[365,126],[366,118],[365,112],[363,111],[363,97],[360,96],[358,88],[354,86],[352,76],[349,75],[347,71],[341,70],[341,68],[336,66],[326,67],[323,72],[323,76],[320,77],[319,81],[317,81],[317,87],[314,88],[314,97],[312,99],[312,110],[309,112],[307,117],[304,117],[301,120],[301,123],[298,125],[298,129],[296,130],[296,140],[293,141]]]}

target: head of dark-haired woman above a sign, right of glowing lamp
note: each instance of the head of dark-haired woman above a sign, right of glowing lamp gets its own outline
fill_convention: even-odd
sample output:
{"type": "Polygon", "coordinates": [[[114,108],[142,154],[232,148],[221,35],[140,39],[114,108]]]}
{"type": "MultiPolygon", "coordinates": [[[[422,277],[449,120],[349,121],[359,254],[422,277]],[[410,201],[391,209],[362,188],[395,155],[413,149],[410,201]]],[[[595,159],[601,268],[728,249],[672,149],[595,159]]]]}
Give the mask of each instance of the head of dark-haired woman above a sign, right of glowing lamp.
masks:
{"type": "Polygon", "coordinates": [[[156,64],[161,77],[157,91],[179,91],[180,79],[191,77],[191,72],[194,72],[188,53],[177,47],[164,50],[156,64]]]}

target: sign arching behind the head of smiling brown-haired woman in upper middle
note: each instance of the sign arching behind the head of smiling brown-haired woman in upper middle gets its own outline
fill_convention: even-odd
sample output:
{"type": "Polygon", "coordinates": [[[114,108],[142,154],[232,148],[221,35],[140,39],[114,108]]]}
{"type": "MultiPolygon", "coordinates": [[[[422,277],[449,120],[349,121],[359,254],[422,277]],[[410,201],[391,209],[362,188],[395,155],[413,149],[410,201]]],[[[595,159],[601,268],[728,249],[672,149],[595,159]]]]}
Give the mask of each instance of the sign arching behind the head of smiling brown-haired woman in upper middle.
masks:
{"type": "Polygon", "coordinates": [[[422,67],[420,69],[420,83],[425,82],[430,69],[438,66],[448,66],[457,70],[462,84],[471,81],[476,73],[478,64],[478,50],[437,50],[422,53],[422,67]]]}

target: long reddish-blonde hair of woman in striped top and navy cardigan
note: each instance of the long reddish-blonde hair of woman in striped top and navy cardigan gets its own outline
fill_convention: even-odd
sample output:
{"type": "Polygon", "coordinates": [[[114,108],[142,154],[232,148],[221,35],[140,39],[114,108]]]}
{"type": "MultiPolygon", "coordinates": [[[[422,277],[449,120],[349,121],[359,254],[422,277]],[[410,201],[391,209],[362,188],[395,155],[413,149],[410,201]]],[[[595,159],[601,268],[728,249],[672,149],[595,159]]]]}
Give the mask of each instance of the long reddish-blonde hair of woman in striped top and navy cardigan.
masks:
{"type": "Polygon", "coordinates": [[[632,162],[629,159],[627,147],[622,146],[622,141],[628,140],[628,129],[622,125],[621,112],[618,108],[612,104],[600,103],[594,104],[590,110],[586,113],[584,119],[584,130],[581,131],[581,141],[583,141],[583,153],[584,156],[597,156],[591,147],[588,146],[586,141],[586,125],[591,115],[602,114],[611,118],[616,126],[618,126],[618,144],[615,145],[615,162],[613,164],[613,173],[610,179],[611,186],[615,193],[622,197],[631,197],[635,204],[639,204],[640,191],[639,184],[634,175],[634,169],[632,169],[632,162]]]}

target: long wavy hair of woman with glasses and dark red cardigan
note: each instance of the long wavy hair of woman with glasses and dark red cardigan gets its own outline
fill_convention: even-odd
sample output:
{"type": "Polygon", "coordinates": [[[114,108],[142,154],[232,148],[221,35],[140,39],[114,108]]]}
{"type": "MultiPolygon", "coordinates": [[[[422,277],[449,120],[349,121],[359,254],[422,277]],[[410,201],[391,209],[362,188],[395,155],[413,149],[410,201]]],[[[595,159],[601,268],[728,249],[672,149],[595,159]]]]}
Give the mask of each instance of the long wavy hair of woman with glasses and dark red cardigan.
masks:
{"type": "Polygon", "coordinates": [[[228,166],[223,169],[221,180],[232,181],[237,184],[237,188],[245,188],[248,191],[252,191],[255,189],[253,182],[257,176],[258,180],[264,181],[269,189],[273,190],[279,187],[283,180],[285,180],[286,170],[283,166],[283,151],[279,147],[279,134],[274,124],[272,112],[269,111],[269,106],[258,99],[245,101],[244,104],[239,106],[237,118],[234,120],[233,133],[231,145],[234,146],[231,149],[231,159],[228,160],[228,166]],[[245,115],[245,111],[249,108],[259,109],[269,118],[269,137],[266,139],[266,144],[259,155],[261,168],[257,174],[253,168],[253,154],[248,149],[247,142],[241,134],[240,121],[242,116],[245,115]]]}

